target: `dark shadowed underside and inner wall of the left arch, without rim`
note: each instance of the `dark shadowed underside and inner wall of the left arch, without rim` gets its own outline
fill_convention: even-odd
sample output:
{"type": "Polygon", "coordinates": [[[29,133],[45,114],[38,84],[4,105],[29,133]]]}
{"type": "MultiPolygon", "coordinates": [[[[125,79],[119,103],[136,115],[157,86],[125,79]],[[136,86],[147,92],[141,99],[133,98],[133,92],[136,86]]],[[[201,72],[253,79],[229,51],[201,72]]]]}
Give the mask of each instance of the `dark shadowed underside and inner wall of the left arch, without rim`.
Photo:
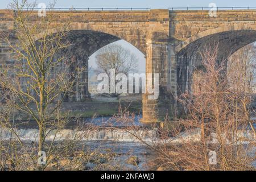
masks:
{"type": "MultiPolygon", "coordinates": [[[[92,56],[101,48],[118,42],[118,40],[124,39],[100,31],[71,30],[68,31],[67,35],[64,37],[64,40],[67,40],[69,43],[71,43],[71,46],[65,48],[61,52],[61,56],[72,57],[74,65],[71,69],[73,69],[74,72],[76,72],[76,69],[82,70],[79,76],[79,80],[77,80],[77,83],[73,85],[72,94],[67,94],[67,97],[64,101],[83,102],[91,98],[89,92],[90,56],[92,56]]],[[[133,44],[126,42],[126,45],[127,44],[129,44],[130,47],[133,47],[133,49],[136,48],[137,52],[141,52],[137,47],[133,46],[133,44]]]]}

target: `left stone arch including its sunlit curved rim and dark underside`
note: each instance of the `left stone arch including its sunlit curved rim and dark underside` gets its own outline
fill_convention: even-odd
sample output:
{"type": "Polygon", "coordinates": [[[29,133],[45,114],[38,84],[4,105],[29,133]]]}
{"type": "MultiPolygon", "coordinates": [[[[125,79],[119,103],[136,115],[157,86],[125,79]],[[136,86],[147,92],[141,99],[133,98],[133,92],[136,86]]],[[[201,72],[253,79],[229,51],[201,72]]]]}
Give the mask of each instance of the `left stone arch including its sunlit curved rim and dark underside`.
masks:
{"type": "MultiPolygon", "coordinates": [[[[61,27],[61,26],[60,26],[61,27]]],[[[61,28],[52,28],[48,31],[47,35],[56,34],[57,32],[61,32],[61,28]]],[[[34,41],[39,40],[44,36],[45,32],[42,32],[34,37],[34,41]]],[[[96,52],[98,49],[116,42],[118,40],[125,40],[126,42],[132,44],[135,48],[142,52],[142,47],[138,46],[137,39],[126,39],[125,35],[120,35],[118,32],[114,30],[102,30],[101,28],[97,29],[95,27],[90,26],[82,26],[82,24],[75,24],[68,28],[67,35],[65,35],[64,39],[70,40],[72,43],[71,46],[65,48],[61,55],[73,55],[73,59],[76,60],[76,65],[74,65],[74,70],[78,67],[84,70],[81,73],[81,79],[79,82],[84,82],[84,84],[77,86],[74,85],[73,92],[74,94],[69,94],[65,101],[77,102],[77,101],[85,101],[90,98],[89,93],[89,76],[88,76],[88,60],[89,57],[96,52]],[[137,45],[137,46],[136,46],[137,45]]],[[[145,54],[144,52],[142,52],[145,54]]]]}

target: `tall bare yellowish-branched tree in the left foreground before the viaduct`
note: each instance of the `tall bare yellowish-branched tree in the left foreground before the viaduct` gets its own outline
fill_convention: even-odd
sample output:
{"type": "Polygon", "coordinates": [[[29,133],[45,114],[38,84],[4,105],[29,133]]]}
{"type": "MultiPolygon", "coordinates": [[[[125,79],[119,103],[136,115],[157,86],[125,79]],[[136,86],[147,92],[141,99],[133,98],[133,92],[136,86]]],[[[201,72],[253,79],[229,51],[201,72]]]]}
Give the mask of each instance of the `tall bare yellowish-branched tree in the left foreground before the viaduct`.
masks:
{"type": "MultiPolygon", "coordinates": [[[[66,94],[72,91],[75,79],[71,79],[74,75],[69,71],[72,57],[61,54],[70,46],[65,40],[70,21],[56,24],[58,16],[47,12],[46,17],[39,17],[35,7],[36,3],[27,0],[14,0],[10,4],[14,35],[2,34],[1,37],[9,45],[11,59],[15,61],[12,65],[2,65],[1,88],[14,97],[16,110],[36,121],[38,151],[44,151],[49,131],[58,131],[67,122],[60,106],[66,94]],[[54,34],[53,28],[57,30],[54,34]],[[51,129],[47,130],[47,127],[51,129]]],[[[54,4],[49,5],[49,9],[53,7],[54,4]]],[[[49,154],[51,150],[52,145],[48,148],[49,154]]]]}

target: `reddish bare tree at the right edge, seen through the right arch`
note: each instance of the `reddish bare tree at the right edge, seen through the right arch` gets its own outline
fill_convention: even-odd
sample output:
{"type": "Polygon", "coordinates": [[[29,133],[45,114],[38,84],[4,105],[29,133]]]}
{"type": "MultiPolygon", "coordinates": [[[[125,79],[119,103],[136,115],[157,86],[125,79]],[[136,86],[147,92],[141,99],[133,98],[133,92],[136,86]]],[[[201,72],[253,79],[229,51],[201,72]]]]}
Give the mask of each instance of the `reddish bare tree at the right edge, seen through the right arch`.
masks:
{"type": "Polygon", "coordinates": [[[239,98],[246,115],[246,121],[249,122],[254,133],[255,129],[250,117],[255,115],[255,106],[251,105],[255,99],[255,73],[256,46],[254,43],[247,45],[230,56],[227,72],[229,92],[239,98]]]}

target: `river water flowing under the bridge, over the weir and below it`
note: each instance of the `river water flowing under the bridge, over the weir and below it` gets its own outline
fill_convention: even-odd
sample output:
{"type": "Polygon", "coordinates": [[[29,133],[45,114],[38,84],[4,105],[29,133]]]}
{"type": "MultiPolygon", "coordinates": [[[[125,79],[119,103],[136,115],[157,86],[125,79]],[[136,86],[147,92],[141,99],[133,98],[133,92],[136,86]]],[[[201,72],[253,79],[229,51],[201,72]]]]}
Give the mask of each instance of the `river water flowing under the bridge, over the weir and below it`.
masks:
{"type": "MultiPolygon", "coordinates": [[[[77,131],[72,129],[72,127],[63,129],[56,134],[56,131],[50,131],[46,141],[61,141],[65,139],[73,139],[75,136],[81,136],[79,141],[81,144],[86,144],[91,150],[96,150],[98,148],[112,148],[113,152],[120,154],[116,160],[125,163],[129,156],[137,156],[141,162],[138,167],[127,164],[126,167],[131,169],[148,169],[147,161],[154,158],[154,152],[150,148],[146,147],[144,144],[139,142],[138,138],[133,134],[140,136],[144,142],[152,142],[157,138],[158,129],[156,127],[144,127],[142,123],[139,122],[141,115],[137,115],[132,123],[118,122],[111,117],[98,117],[98,118],[84,118],[82,120],[85,124],[94,125],[98,128],[97,130],[77,131]],[[129,132],[122,130],[123,127],[136,126],[129,130],[129,132]]],[[[19,135],[20,140],[26,142],[38,142],[39,130],[35,127],[36,125],[19,125],[14,131],[19,135]]],[[[256,124],[254,123],[254,127],[256,124]]],[[[250,128],[249,128],[250,129],[250,128]]],[[[243,137],[251,137],[248,133],[241,133],[243,137]]],[[[10,130],[0,128],[0,141],[10,140],[10,138],[15,139],[13,133],[10,130]]],[[[214,134],[213,134],[214,137],[214,134]]],[[[179,136],[166,139],[168,142],[179,143],[182,140],[200,140],[200,129],[195,129],[189,133],[184,132],[179,136]]],[[[214,140],[213,140],[214,142],[214,140]]],[[[103,150],[102,150],[103,151],[103,150]]],[[[256,164],[255,164],[256,165],[256,164]]]]}

